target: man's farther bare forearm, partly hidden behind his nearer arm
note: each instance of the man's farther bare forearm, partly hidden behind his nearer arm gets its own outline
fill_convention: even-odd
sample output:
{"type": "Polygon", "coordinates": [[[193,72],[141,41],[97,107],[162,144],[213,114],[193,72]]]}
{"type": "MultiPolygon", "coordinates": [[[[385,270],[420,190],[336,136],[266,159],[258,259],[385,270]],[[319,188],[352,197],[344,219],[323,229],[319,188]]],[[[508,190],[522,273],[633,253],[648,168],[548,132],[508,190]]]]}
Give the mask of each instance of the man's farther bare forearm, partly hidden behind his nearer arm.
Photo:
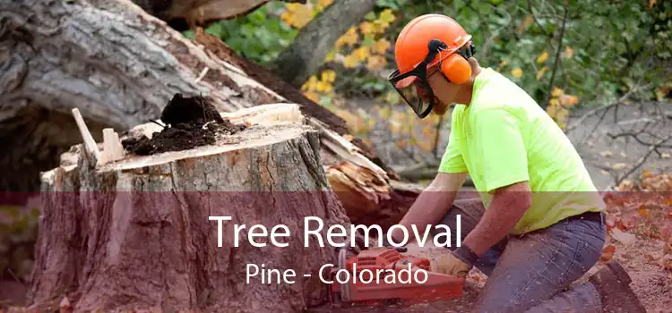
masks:
{"type": "MultiPolygon", "coordinates": [[[[413,202],[409,212],[399,224],[410,232],[412,224],[415,224],[418,229],[425,229],[427,224],[440,221],[448,208],[452,206],[457,191],[460,190],[466,178],[467,173],[439,172],[434,181],[420,192],[418,199],[413,202]]],[[[399,228],[393,229],[391,235],[395,243],[403,239],[403,232],[399,228]]]]}

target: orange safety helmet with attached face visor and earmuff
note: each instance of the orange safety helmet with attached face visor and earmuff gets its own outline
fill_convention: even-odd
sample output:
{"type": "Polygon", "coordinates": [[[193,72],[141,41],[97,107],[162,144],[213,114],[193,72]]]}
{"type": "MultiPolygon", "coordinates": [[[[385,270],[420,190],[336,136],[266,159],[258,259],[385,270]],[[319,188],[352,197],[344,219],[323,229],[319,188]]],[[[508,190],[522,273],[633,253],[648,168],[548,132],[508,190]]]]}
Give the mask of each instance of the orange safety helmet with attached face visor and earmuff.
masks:
{"type": "Polygon", "coordinates": [[[420,118],[434,106],[434,91],[426,77],[437,65],[446,80],[461,84],[470,79],[471,35],[457,21],[442,14],[426,14],[409,21],[394,44],[397,69],[388,80],[420,118]]]}

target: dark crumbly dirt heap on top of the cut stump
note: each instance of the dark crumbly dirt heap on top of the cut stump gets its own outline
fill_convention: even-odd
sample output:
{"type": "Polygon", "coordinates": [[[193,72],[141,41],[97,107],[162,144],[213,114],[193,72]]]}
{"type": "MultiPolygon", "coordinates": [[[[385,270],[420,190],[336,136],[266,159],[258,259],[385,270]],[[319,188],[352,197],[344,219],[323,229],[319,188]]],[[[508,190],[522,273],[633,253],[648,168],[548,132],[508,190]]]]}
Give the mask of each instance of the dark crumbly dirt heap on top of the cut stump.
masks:
{"type": "Polygon", "coordinates": [[[244,124],[233,124],[221,118],[207,97],[183,97],[176,94],[161,112],[162,131],[147,137],[122,141],[124,148],[134,155],[181,151],[214,144],[220,136],[244,131],[244,124]]]}

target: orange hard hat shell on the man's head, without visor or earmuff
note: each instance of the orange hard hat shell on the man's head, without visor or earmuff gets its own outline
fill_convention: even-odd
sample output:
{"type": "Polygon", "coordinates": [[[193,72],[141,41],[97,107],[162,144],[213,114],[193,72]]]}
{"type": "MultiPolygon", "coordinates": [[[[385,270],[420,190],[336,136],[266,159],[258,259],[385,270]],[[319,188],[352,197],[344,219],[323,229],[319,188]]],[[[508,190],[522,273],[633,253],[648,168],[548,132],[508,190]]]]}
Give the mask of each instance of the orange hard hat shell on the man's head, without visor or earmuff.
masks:
{"type": "Polygon", "coordinates": [[[436,55],[427,67],[434,66],[469,43],[471,35],[457,21],[442,14],[421,15],[409,21],[394,44],[394,59],[401,74],[413,70],[425,59],[429,53],[427,45],[432,39],[442,41],[447,48],[436,55]]]}

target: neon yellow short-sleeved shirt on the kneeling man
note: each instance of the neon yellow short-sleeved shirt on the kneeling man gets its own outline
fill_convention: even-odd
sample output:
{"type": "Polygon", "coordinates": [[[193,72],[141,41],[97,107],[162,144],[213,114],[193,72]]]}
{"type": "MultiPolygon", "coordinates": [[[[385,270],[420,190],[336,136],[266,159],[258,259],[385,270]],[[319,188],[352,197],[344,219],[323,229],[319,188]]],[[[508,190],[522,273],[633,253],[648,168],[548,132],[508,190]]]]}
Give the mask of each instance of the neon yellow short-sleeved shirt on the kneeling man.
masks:
{"type": "Polygon", "coordinates": [[[564,132],[502,74],[482,69],[470,106],[455,106],[451,124],[439,172],[469,173],[486,209],[494,190],[530,183],[532,206],[511,233],[529,233],[568,216],[605,209],[564,132]]]}

